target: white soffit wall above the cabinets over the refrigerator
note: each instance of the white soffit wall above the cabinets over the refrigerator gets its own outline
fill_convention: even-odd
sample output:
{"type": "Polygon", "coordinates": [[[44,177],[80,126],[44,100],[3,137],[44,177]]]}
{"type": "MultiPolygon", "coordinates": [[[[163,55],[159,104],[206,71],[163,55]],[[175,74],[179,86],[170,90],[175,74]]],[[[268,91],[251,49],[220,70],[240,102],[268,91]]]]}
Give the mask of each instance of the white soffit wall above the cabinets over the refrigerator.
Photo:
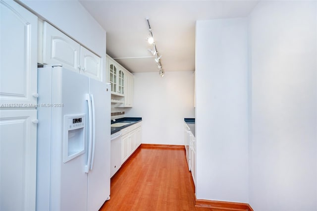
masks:
{"type": "Polygon", "coordinates": [[[78,0],[20,0],[20,2],[88,49],[101,56],[106,53],[106,31],[78,0]]]}

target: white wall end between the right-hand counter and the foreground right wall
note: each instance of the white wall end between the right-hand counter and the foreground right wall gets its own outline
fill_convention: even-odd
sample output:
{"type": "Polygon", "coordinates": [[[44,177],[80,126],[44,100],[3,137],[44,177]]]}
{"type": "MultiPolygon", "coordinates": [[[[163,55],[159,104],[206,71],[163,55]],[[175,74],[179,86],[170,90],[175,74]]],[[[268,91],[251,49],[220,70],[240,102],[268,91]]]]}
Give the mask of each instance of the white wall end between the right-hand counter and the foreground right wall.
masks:
{"type": "Polygon", "coordinates": [[[196,23],[198,199],[248,202],[247,19],[196,23]]]}

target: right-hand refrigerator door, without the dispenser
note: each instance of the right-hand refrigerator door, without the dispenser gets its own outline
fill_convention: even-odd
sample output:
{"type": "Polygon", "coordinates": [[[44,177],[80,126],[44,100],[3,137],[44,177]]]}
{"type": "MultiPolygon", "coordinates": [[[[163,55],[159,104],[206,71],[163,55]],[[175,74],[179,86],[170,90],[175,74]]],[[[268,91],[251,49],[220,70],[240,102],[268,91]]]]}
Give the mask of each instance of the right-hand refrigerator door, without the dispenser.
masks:
{"type": "Polygon", "coordinates": [[[95,153],[88,172],[88,211],[98,211],[110,196],[110,85],[89,79],[95,101],[95,153]]]}

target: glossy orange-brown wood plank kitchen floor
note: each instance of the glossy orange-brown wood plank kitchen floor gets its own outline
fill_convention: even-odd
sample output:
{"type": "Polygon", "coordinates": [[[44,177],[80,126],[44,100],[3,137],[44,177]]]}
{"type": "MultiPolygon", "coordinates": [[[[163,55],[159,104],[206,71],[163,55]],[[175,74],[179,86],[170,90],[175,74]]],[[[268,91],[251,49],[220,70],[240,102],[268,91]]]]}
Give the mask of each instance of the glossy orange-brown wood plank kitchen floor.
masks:
{"type": "Polygon", "coordinates": [[[184,149],[139,147],[111,178],[110,200],[100,211],[204,211],[184,149]]]}

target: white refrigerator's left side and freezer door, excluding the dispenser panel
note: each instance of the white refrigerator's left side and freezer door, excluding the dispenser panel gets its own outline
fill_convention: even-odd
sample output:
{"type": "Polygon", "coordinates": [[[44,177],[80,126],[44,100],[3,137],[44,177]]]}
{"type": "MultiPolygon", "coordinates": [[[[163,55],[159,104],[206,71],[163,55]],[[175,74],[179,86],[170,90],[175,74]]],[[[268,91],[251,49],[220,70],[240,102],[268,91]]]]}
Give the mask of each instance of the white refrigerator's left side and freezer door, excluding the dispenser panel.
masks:
{"type": "MultiPolygon", "coordinates": [[[[37,210],[86,211],[87,132],[85,154],[65,163],[63,133],[64,115],[87,115],[89,79],[62,67],[39,68],[38,73],[37,210]]],[[[87,128],[87,121],[85,124],[87,128]]]]}

